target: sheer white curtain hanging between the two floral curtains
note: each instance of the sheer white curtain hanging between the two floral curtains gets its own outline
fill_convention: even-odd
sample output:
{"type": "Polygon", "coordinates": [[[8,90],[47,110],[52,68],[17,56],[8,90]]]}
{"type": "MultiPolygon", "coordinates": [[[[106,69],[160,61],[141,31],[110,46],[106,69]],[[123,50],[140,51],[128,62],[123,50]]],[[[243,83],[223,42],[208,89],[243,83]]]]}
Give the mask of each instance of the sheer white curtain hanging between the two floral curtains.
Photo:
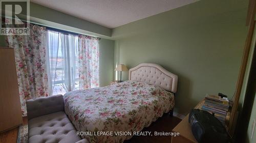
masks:
{"type": "Polygon", "coordinates": [[[48,30],[47,40],[50,95],[79,89],[78,37],[48,30]]]}

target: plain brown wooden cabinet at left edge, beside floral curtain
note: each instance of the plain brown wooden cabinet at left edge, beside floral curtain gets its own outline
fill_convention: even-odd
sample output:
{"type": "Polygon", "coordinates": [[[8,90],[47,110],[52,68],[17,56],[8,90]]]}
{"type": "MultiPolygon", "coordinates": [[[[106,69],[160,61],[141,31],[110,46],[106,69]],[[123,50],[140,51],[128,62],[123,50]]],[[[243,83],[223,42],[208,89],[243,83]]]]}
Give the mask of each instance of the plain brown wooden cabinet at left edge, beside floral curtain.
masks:
{"type": "Polygon", "coordinates": [[[0,47],[0,132],[22,124],[14,51],[0,47]]]}

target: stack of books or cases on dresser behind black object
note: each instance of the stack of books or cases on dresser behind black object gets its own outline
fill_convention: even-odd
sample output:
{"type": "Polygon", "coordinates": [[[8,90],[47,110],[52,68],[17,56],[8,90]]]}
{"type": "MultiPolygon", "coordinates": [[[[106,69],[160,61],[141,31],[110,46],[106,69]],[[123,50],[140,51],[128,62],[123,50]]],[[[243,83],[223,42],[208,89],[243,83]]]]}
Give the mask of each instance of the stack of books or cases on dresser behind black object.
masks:
{"type": "Polygon", "coordinates": [[[202,110],[214,113],[215,117],[219,119],[223,125],[225,125],[228,109],[229,101],[227,98],[208,94],[205,96],[205,102],[202,106],[202,110]]]}

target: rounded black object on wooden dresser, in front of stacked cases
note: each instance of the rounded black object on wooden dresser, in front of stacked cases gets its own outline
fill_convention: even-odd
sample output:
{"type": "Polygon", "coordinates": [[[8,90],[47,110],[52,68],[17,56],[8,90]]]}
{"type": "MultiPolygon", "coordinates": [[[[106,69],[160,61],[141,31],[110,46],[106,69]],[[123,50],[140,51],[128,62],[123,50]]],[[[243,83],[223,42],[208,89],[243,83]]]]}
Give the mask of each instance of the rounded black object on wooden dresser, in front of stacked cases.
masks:
{"type": "Polygon", "coordinates": [[[209,112],[192,109],[188,122],[195,138],[200,143],[228,143],[231,139],[222,123],[209,112]]]}

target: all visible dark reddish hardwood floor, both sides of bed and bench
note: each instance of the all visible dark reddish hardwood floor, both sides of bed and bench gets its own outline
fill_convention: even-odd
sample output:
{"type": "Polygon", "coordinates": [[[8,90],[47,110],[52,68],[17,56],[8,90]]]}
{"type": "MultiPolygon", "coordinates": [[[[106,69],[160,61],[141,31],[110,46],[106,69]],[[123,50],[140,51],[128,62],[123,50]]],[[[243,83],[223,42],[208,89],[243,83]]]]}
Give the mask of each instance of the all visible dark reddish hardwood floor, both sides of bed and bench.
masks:
{"type": "MultiPolygon", "coordinates": [[[[157,132],[171,132],[172,129],[180,123],[180,119],[170,117],[167,113],[159,118],[156,122],[152,123],[150,127],[144,128],[143,131],[157,132]]],[[[28,119],[23,118],[23,124],[28,124],[28,119]]],[[[18,128],[9,130],[0,134],[0,143],[16,143],[18,128]]],[[[124,143],[170,143],[171,136],[133,136],[130,140],[125,140],[124,143]]]]}

